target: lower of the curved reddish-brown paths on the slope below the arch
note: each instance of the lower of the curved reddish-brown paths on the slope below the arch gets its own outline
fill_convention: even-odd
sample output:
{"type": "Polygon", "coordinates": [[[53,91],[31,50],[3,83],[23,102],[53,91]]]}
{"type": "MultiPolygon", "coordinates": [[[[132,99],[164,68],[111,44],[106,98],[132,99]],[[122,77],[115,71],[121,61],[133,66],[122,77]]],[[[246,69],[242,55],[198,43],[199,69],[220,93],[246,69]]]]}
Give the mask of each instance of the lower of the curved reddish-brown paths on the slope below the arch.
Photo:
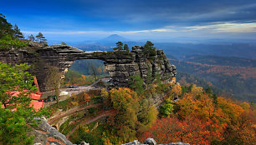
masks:
{"type": "Polygon", "coordinates": [[[84,120],[82,122],[79,122],[79,124],[77,126],[75,126],[67,135],[66,138],[69,138],[71,134],[74,133],[75,130],[77,130],[79,128],[79,126],[86,124],[90,124],[91,122],[95,122],[96,120],[100,119],[101,117],[106,117],[106,116],[110,116],[111,114],[114,114],[115,110],[109,110],[109,111],[105,111],[105,112],[101,112],[100,115],[98,115],[97,117],[93,117],[87,120],[84,120]]]}

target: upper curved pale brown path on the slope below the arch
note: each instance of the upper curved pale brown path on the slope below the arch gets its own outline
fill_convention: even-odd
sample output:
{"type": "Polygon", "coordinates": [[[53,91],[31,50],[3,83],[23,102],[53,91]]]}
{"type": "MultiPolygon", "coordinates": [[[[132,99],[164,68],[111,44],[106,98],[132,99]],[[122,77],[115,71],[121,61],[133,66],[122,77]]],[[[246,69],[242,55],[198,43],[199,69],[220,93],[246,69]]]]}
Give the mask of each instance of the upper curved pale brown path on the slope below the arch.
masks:
{"type": "Polygon", "coordinates": [[[89,105],[89,106],[86,106],[86,107],[75,107],[75,108],[72,108],[72,109],[70,109],[66,112],[60,112],[59,114],[54,115],[53,117],[49,117],[48,122],[49,122],[49,124],[51,124],[52,122],[55,122],[56,120],[58,120],[61,117],[68,116],[69,114],[72,114],[74,112],[79,112],[79,111],[82,111],[82,110],[85,110],[85,109],[89,109],[90,107],[99,107],[100,105],[101,105],[101,103],[96,103],[96,104],[92,104],[92,105],[89,105]]]}

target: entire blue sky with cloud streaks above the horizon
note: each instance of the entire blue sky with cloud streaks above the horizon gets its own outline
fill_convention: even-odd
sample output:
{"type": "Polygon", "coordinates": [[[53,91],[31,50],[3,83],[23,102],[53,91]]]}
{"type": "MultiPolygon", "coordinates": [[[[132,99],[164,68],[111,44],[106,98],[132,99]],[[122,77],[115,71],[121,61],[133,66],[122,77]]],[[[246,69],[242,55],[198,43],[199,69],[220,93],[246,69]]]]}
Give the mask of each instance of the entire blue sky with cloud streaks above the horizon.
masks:
{"type": "Polygon", "coordinates": [[[256,0],[2,0],[0,13],[25,35],[79,42],[119,34],[131,40],[256,41],[256,0]]]}

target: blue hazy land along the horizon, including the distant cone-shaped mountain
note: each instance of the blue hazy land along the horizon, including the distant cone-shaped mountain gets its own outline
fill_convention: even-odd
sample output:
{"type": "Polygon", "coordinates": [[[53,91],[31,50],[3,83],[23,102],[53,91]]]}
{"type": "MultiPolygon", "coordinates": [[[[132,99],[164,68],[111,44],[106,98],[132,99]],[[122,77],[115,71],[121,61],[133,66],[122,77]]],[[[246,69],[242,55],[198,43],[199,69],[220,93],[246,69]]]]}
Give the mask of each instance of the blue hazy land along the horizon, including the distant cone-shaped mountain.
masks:
{"type": "MultiPolygon", "coordinates": [[[[90,50],[112,50],[116,42],[123,42],[131,47],[135,45],[144,46],[145,41],[131,41],[120,35],[110,35],[95,42],[74,42],[71,45],[81,49],[90,50]]],[[[212,55],[220,57],[243,57],[256,59],[256,45],[248,43],[226,43],[226,44],[207,44],[207,43],[177,43],[177,42],[153,42],[159,49],[163,49],[166,56],[174,56],[178,59],[186,59],[192,55],[212,55]]]]}

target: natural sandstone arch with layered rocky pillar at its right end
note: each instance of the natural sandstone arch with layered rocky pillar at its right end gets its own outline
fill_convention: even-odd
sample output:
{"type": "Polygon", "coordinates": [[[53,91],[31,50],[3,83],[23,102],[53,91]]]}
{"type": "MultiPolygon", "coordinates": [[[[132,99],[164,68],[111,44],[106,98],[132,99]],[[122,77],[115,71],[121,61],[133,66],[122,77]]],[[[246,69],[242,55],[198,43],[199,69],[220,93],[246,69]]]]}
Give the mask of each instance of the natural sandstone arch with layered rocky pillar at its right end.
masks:
{"type": "Polygon", "coordinates": [[[162,50],[156,50],[153,61],[149,61],[142,52],[143,47],[132,47],[131,52],[100,52],[82,51],[67,45],[51,45],[33,51],[12,50],[0,52],[0,61],[8,63],[28,62],[32,65],[32,73],[38,78],[40,91],[51,88],[46,85],[46,73],[49,66],[59,68],[63,75],[75,60],[100,59],[105,62],[106,70],[110,73],[112,82],[116,87],[127,87],[128,79],[139,75],[146,79],[148,72],[155,77],[156,73],[161,78],[176,76],[176,67],[172,65],[162,50]]]}

